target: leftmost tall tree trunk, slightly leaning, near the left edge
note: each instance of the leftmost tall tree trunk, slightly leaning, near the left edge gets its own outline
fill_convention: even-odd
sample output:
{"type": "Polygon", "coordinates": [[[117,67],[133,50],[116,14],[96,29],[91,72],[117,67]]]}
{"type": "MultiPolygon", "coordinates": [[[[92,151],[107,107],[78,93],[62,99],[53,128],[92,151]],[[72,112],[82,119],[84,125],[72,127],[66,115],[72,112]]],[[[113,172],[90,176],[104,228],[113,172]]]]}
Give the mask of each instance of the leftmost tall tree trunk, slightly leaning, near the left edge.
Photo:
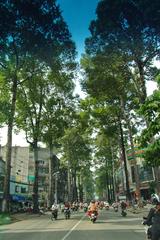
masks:
{"type": "Polygon", "coordinates": [[[17,76],[13,79],[12,85],[12,102],[11,111],[8,119],[8,134],[7,134],[7,152],[6,152],[6,165],[5,165],[5,178],[4,178],[4,195],[2,202],[2,212],[9,212],[10,210],[10,175],[11,175],[11,159],[12,159],[12,130],[16,109],[17,97],[17,76]]]}

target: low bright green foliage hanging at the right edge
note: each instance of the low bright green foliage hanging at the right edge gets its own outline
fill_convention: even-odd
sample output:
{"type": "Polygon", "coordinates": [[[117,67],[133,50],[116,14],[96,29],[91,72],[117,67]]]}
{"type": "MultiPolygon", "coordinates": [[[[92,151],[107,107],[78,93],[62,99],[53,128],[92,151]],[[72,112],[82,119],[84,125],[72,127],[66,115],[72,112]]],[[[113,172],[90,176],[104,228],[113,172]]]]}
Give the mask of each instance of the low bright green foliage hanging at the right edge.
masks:
{"type": "MultiPolygon", "coordinates": [[[[159,84],[159,77],[158,77],[159,84]]],[[[160,90],[147,98],[145,104],[141,106],[140,114],[147,121],[147,128],[142,131],[140,142],[147,147],[144,158],[151,166],[160,166],[160,90]]]]}

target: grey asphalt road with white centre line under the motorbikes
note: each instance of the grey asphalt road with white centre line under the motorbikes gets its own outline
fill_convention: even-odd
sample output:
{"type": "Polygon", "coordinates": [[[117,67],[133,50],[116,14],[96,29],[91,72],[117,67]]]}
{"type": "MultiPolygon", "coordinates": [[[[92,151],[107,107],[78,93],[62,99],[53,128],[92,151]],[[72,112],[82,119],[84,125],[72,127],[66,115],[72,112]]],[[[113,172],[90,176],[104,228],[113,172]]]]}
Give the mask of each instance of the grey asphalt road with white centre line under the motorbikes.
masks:
{"type": "Polygon", "coordinates": [[[72,214],[69,220],[60,214],[56,221],[46,214],[0,226],[0,240],[142,240],[141,221],[137,215],[121,217],[112,209],[99,211],[96,223],[83,212],[72,214]]]}

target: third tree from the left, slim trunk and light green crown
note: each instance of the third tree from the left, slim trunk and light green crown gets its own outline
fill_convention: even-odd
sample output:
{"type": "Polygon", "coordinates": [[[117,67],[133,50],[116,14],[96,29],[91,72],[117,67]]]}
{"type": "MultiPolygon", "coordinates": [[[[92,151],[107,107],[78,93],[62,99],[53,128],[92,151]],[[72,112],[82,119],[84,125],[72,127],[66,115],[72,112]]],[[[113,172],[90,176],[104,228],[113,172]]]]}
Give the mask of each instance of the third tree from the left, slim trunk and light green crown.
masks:
{"type": "Polygon", "coordinates": [[[45,116],[43,120],[44,130],[42,132],[42,140],[50,149],[49,205],[53,203],[53,172],[57,171],[57,169],[54,169],[52,163],[53,151],[56,149],[57,152],[60,149],[61,145],[59,141],[65,135],[65,130],[70,126],[70,123],[74,118],[76,101],[70,91],[65,93],[63,92],[63,86],[62,89],[59,89],[59,87],[57,89],[56,85],[54,85],[54,81],[52,82],[52,85],[54,87],[47,95],[45,116]]]}

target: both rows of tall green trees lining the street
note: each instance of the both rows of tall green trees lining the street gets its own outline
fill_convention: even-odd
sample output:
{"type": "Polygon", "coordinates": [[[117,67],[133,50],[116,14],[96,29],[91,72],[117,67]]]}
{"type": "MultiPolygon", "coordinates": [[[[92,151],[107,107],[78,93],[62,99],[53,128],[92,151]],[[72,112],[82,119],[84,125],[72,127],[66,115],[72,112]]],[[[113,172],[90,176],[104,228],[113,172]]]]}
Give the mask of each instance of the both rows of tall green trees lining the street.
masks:
{"type": "MultiPolygon", "coordinates": [[[[0,123],[8,126],[3,211],[9,210],[12,132],[24,130],[34,150],[33,202],[38,210],[38,144],[60,149],[67,170],[68,200],[83,188],[94,193],[90,167],[98,167],[97,192],[115,197],[117,159],[124,163],[131,199],[126,149],[131,148],[140,196],[135,141],[159,176],[159,89],[149,98],[146,81],[159,79],[159,1],[102,0],[81,59],[84,100],[74,96],[76,50],[56,1],[0,2],[0,123]],[[152,18],[154,13],[154,18],[152,18]],[[142,129],[144,129],[142,131],[142,129]],[[149,147],[148,147],[149,146],[149,147]],[[72,183],[72,189],[71,189],[72,183]],[[78,191],[77,191],[78,185],[78,191]],[[110,187],[112,186],[112,187],[110,187]],[[112,189],[111,189],[112,188],[112,189]]],[[[159,81],[159,80],[158,80],[159,81]]],[[[52,161],[49,201],[53,201],[52,161]]],[[[157,184],[157,192],[160,192],[157,184]]]]}

